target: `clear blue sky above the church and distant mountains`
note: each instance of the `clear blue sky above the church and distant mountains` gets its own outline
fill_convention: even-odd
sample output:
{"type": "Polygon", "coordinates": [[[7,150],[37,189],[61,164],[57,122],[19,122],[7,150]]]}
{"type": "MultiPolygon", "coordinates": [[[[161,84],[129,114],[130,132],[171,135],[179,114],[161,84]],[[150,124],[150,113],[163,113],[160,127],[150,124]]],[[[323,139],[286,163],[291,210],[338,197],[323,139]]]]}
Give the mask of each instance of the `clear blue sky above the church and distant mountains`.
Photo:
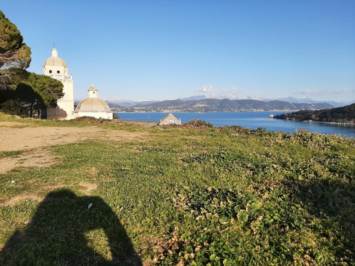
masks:
{"type": "Polygon", "coordinates": [[[355,1],[9,1],[43,73],[53,41],[101,98],[203,93],[355,99],[355,1]]]}

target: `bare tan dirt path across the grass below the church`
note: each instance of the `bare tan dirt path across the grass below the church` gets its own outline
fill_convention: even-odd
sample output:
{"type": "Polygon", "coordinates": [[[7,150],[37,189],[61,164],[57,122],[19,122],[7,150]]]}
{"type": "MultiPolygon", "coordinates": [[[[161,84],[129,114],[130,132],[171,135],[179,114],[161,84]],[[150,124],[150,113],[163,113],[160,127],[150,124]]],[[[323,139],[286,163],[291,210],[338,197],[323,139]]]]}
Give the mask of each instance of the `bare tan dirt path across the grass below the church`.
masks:
{"type": "Polygon", "coordinates": [[[0,151],[33,149],[84,139],[113,141],[144,140],[145,132],[127,132],[88,127],[38,127],[31,123],[0,122],[0,151]]]}

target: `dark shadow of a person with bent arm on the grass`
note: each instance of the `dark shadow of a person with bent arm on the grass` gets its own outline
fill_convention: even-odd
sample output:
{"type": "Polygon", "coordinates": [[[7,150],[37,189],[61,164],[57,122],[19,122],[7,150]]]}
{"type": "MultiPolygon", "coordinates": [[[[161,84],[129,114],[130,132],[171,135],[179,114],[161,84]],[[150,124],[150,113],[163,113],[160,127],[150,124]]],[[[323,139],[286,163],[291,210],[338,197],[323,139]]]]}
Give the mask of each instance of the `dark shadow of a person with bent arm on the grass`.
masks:
{"type": "Polygon", "coordinates": [[[60,189],[49,193],[26,228],[11,236],[0,252],[0,265],[142,262],[118,217],[100,197],[76,196],[69,189],[60,189]]]}

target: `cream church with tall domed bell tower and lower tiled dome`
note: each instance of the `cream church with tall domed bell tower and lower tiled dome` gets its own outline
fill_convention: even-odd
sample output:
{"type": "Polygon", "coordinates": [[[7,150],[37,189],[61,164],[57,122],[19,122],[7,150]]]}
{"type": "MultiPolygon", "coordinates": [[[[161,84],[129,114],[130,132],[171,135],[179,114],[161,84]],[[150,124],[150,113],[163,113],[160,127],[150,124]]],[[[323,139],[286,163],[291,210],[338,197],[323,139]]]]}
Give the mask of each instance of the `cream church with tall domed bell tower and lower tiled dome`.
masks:
{"type": "Polygon", "coordinates": [[[58,57],[58,50],[52,49],[52,56],[44,61],[43,71],[46,76],[58,79],[63,83],[64,96],[57,100],[55,108],[41,110],[42,119],[69,120],[80,116],[113,119],[113,111],[108,104],[98,98],[98,90],[92,85],[88,89],[88,98],[81,101],[74,110],[73,77],[69,75],[69,68],[65,61],[58,57]]]}

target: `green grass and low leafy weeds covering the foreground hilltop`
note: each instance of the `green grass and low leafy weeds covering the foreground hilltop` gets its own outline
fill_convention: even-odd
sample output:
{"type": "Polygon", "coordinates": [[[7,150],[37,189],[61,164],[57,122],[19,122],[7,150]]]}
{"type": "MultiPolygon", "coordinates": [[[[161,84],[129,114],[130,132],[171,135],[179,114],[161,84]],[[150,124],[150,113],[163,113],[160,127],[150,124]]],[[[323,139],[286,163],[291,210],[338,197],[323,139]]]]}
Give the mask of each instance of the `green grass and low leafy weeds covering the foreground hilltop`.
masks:
{"type": "Polygon", "coordinates": [[[58,164],[0,175],[0,198],[47,195],[0,207],[1,265],[355,264],[353,139],[98,126],[151,134],[51,146],[58,164]]]}

